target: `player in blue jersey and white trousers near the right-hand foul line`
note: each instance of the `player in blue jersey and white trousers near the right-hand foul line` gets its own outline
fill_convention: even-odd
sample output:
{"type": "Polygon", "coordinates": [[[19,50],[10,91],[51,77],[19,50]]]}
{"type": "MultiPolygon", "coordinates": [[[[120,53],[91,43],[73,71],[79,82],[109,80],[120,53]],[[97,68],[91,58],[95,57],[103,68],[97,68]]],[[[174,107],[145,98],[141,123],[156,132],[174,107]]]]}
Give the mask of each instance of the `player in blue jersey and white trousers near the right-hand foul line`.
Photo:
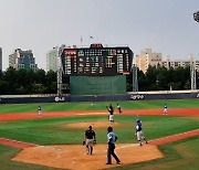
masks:
{"type": "Polygon", "coordinates": [[[140,146],[143,146],[143,141],[145,140],[146,144],[148,144],[148,141],[146,140],[144,134],[143,134],[143,126],[142,126],[142,120],[137,119],[136,120],[136,132],[135,135],[137,136],[137,141],[139,142],[140,146]]]}

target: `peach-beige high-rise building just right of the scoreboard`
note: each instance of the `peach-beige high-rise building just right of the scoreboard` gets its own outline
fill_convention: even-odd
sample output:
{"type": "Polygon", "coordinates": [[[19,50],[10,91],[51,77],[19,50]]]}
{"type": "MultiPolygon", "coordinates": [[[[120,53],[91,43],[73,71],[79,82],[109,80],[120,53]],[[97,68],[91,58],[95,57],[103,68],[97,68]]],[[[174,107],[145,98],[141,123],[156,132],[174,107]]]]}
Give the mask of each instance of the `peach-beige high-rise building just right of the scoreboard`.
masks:
{"type": "Polygon", "coordinates": [[[146,73],[149,65],[161,65],[161,53],[154,53],[151,49],[146,49],[139,55],[136,55],[136,64],[139,70],[146,73]]]}

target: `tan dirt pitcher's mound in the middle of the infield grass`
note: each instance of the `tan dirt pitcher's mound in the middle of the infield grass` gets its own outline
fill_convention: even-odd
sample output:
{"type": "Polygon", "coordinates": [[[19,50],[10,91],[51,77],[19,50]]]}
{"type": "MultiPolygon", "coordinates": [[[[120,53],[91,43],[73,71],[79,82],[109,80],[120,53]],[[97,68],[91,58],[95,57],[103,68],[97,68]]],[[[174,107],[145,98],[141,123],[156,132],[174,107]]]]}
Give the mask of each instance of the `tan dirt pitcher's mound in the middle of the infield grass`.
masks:
{"type": "Polygon", "coordinates": [[[107,128],[108,126],[117,126],[118,123],[111,124],[109,121],[83,121],[83,123],[75,123],[75,124],[67,124],[64,127],[70,128],[87,128],[88,126],[92,126],[93,128],[107,128]]]}

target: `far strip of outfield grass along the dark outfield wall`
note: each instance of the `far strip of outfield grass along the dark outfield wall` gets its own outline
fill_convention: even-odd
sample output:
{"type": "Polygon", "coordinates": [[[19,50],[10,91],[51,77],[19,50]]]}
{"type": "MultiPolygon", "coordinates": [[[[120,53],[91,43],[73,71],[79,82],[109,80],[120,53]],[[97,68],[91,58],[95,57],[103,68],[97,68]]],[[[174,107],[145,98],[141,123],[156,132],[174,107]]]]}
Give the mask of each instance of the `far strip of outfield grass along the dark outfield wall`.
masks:
{"type": "Polygon", "coordinates": [[[199,108],[199,99],[95,102],[94,105],[91,103],[2,104],[0,105],[0,114],[32,113],[38,110],[39,105],[44,111],[103,110],[111,103],[115,107],[119,103],[123,109],[163,108],[165,103],[167,103],[168,108],[199,108]]]}

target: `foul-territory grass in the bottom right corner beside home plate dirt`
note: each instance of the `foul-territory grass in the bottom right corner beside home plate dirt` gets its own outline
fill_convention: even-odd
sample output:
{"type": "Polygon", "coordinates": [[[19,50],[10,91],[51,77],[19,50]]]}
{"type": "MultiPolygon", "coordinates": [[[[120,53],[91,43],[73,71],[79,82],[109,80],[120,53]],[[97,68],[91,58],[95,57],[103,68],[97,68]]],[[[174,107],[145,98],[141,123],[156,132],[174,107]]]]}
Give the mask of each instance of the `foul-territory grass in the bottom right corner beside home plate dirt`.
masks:
{"type": "MultiPolygon", "coordinates": [[[[113,168],[113,170],[198,170],[199,137],[160,146],[165,158],[113,168]]],[[[133,157],[136,157],[133,155],[133,157]]]]}

